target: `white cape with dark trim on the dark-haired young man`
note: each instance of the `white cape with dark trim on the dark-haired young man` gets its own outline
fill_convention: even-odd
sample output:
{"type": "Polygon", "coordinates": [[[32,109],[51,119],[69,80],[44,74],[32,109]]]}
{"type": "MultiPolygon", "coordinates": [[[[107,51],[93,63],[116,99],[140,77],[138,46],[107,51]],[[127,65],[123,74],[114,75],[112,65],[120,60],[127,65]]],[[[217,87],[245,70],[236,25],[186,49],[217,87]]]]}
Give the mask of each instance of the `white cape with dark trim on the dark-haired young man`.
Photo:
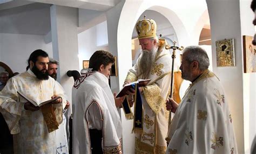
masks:
{"type": "Polygon", "coordinates": [[[91,153],[89,129],[102,130],[103,153],[122,153],[122,124],[106,76],[95,72],[80,82],[74,101],[73,153],[91,153]]]}

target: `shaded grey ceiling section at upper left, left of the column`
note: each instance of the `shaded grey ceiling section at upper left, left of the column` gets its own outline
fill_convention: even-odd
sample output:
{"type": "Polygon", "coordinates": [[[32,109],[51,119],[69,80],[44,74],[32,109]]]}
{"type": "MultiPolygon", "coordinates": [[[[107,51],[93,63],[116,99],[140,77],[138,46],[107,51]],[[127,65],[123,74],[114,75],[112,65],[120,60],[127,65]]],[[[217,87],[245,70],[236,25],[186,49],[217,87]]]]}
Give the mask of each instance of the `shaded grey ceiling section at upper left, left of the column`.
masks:
{"type": "Polygon", "coordinates": [[[50,4],[32,3],[0,10],[0,33],[45,35],[50,30],[50,4]]]}

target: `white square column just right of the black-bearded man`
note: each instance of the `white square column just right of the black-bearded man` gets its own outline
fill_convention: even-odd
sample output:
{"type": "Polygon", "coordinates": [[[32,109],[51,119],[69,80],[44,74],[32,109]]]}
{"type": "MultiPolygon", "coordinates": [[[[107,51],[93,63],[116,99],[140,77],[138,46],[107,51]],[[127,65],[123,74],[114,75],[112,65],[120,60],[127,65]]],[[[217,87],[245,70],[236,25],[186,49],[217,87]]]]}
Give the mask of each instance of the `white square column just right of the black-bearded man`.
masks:
{"type": "Polygon", "coordinates": [[[52,5],[51,34],[53,59],[59,61],[57,80],[63,86],[71,102],[73,78],[66,75],[69,70],[79,68],[78,59],[78,10],[66,6],[52,5]]]}

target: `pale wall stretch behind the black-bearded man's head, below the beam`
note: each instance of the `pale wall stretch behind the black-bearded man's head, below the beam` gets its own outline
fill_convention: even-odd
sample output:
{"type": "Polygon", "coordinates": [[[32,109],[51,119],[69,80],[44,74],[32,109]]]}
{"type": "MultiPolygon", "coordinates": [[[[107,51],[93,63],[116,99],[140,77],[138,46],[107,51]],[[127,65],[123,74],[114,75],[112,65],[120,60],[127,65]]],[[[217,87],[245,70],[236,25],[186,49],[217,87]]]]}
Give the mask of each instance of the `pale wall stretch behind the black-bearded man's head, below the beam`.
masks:
{"type": "Polygon", "coordinates": [[[37,49],[44,50],[52,57],[52,44],[45,44],[44,36],[0,33],[0,61],[13,72],[24,72],[29,55],[37,49]]]}

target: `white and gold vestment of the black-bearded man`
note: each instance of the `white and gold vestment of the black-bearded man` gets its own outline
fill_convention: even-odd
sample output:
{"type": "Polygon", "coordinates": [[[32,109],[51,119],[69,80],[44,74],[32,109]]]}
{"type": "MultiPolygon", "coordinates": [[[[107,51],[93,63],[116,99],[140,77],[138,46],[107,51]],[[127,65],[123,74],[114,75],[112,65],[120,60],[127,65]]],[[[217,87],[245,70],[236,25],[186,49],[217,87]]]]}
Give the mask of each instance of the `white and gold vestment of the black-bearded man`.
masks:
{"type": "Polygon", "coordinates": [[[64,92],[56,86],[54,79],[38,80],[36,75],[28,71],[8,80],[0,92],[0,111],[2,112],[11,134],[14,134],[14,152],[23,153],[56,153],[55,131],[48,132],[42,110],[24,109],[27,102],[17,91],[38,102],[50,100],[51,96],[59,95],[62,103],[53,104],[53,111],[58,124],[62,122],[64,92]]]}

